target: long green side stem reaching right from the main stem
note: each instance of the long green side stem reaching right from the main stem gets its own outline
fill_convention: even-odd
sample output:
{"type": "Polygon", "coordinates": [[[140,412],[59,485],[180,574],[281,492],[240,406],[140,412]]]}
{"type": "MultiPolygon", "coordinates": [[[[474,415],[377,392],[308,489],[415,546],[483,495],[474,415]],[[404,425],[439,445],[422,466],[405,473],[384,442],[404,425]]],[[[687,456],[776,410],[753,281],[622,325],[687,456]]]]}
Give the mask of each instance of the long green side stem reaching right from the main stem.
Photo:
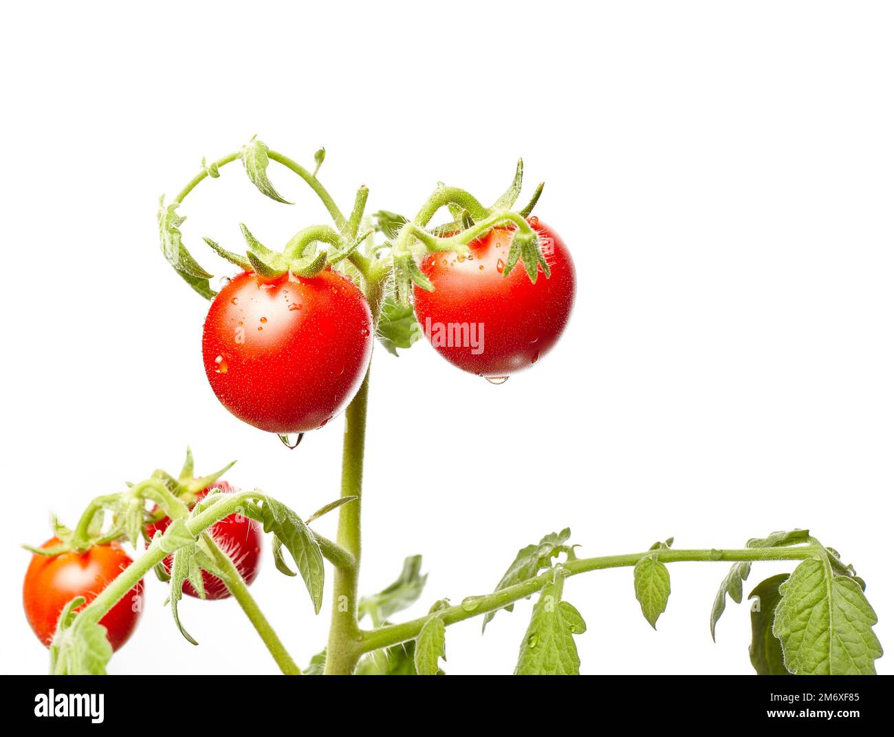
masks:
{"type": "MultiPolygon", "coordinates": [[[[649,550],[644,553],[629,553],[627,555],[606,555],[598,558],[581,558],[579,560],[562,563],[562,568],[570,576],[589,571],[599,571],[605,568],[621,568],[636,565],[646,555],[655,555],[662,563],[679,563],[682,561],[790,561],[805,560],[816,555],[814,546],[798,547],[756,547],[744,550],[649,550]]],[[[455,624],[463,620],[471,619],[480,614],[496,612],[503,607],[512,604],[522,598],[530,597],[544,588],[544,585],[552,576],[552,569],[541,573],[533,579],[528,579],[513,586],[494,591],[483,597],[471,597],[467,600],[467,606],[451,606],[442,609],[440,616],[444,624],[455,624]],[[473,606],[474,605],[474,606],[473,606]]],[[[380,648],[389,648],[407,640],[413,640],[428,621],[428,615],[419,617],[401,624],[390,624],[377,630],[362,632],[361,652],[367,653],[380,648]]]]}

